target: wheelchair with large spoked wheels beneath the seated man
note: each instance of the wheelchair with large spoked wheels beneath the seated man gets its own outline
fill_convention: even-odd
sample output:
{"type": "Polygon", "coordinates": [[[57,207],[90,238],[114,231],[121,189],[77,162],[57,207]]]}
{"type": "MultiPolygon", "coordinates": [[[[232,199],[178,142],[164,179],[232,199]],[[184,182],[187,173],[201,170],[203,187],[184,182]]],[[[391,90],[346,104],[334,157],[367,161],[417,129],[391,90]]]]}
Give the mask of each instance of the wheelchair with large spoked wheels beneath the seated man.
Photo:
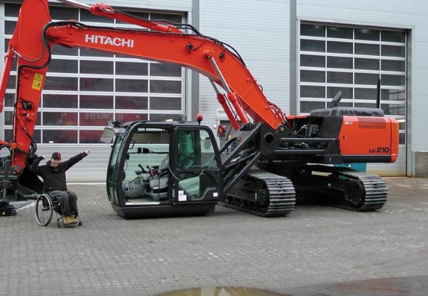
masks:
{"type": "MultiPolygon", "coordinates": [[[[55,212],[56,225],[58,228],[61,228],[60,220],[64,226],[69,226],[73,224],[65,224],[64,216],[62,214],[61,203],[57,200],[52,200],[49,194],[42,193],[36,199],[36,220],[37,223],[41,226],[48,226],[52,220],[53,213],[55,212]]],[[[82,221],[79,218],[79,215],[76,216],[77,225],[82,226],[82,221]]]]}

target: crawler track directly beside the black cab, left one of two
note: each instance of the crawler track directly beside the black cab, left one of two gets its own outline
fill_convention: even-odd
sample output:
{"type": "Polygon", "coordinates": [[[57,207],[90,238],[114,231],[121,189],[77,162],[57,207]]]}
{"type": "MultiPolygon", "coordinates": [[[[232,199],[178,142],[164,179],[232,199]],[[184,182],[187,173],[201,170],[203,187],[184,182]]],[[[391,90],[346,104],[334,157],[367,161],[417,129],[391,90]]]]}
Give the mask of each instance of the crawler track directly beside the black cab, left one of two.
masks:
{"type": "MultiPolygon", "coordinates": [[[[266,184],[270,197],[267,209],[260,207],[257,207],[257,209],[250,208],[248,202],[239,202],[239,204],[247,205],[246,207],[224,201],[219,202],[220,205],[263,217],[285,216],[294,209],[296,204],[296,192],[289,178],[267,172],[253,172],[248,173],[247,176],[266,184]],[[260,211],[260,209],[262,209],[262,211],[260,211]]],[[[232,202],[236,201],[237,198],[238,197],[233,197],[232,202]]],[[[247,201],[247,199],[244,200],[247,201]]],[[[252,204],[252,202],[250,203],[252,204]]]]}

